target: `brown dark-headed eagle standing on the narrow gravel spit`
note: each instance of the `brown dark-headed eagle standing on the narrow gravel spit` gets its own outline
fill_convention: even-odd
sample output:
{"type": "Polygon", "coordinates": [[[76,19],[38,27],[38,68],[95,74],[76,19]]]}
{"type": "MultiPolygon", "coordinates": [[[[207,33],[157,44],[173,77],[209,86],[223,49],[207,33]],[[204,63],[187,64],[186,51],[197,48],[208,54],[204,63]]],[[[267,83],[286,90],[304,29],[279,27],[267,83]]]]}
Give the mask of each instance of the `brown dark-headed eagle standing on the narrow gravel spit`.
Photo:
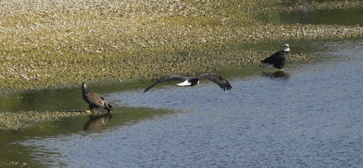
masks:
{"type": "Polygon", "coordinates": [[[112,106],[107,104],[105,99],[103,99],[99,94],[90,91],[85,82],[82,83],[82,96],[83,99],[85,99],[85,101],[89,104],[89,113],[93,108],[99,107],[106,109],[107,112],[112,112],[112,106]]]}

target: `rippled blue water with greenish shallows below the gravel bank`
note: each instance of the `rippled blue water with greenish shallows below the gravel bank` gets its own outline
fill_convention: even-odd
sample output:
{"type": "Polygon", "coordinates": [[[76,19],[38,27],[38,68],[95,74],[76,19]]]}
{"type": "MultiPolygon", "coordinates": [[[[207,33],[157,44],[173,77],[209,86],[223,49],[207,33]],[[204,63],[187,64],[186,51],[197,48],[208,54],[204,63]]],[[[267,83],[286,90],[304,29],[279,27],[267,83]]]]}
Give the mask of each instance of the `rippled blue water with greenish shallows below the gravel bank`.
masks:
{"type": "MultiPolygon", "coordinates": [[[[242,45],[277,51],[288,43],[293,54],[314,53],[318,58],[289,64],[283,73],[258,66],[223,69],[217,73],[233,87],[225,92],[205,80],[193,87],[170,81],[145,94],[142,90],[154,80],[92,83],[90,89],[115,107],[111,116],[68,117],[24,130],[1,130],[5,146],[0,165],[362,167],[362,42],[354,38],[242,45]]],[[[41,96],[42,91],[36,92],[23,94],[23,99],[41,96]]],[[[66,108],[87,108],[80,88],[43,92],[57,93],[60,99],[69,96],[66,108]]],[[[57,110],[62,103],[38,108],[57,110]]]]}

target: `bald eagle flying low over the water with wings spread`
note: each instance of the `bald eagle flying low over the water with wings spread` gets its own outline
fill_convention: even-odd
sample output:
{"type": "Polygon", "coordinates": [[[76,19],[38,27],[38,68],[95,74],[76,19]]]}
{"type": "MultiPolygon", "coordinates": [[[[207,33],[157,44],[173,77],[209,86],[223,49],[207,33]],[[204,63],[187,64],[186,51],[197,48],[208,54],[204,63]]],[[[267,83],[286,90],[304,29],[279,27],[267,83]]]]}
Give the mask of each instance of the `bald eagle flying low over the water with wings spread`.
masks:
{"type": "Polygon", "coordinates": [[[155,86],[158,83],[162,83],[165,81],[170,81],[170,80],[179,80],[182,81],[182,83],[178,83],[176,85],[179,86],[194,86],[194,85],[199,85],[199,78],[203,78],[203,79],[209,79],[210,81],[216,83],[217,85],[219,85],[219,87],[221,87],[221,89],[223,89],[224,91],[227,90],[231,90],[232,86],[229,84],[229,82],[222,78],[221,76],[219,76],[216,73],[210,72],[210,73],[203,73],[200,74],[199,76],[196,77],[185,77],[185,76],[181,76],[181,75],[171,75],[168,76],[164,79],[162,79],[159,82],[156,82],[154,84],[152,84],[151,86],[147,87],[146,89],[144,89],[144,93],[147,92],[151,87],[155,86]]]}

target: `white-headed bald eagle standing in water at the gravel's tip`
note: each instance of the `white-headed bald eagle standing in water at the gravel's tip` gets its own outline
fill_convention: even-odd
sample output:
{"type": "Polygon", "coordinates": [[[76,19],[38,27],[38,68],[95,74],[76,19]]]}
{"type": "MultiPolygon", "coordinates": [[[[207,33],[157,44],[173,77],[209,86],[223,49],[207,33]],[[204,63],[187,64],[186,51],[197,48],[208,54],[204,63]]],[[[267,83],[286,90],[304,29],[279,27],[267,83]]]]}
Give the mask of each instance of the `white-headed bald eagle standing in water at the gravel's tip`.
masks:
{"type": "Polygon", "coordinates": [[[260,66],[261,68],[264,68],[265,66],[269,66],[271,68],[272,66],[279,69],[280,71],[283,71],[284,65],[289,61],[290,58],[290,48],[289,44],[285,44],[282,46],[282,51],[278,51],[274,53],[273,55],[267,57],[266,59],[262,60],[260,63],[262,63],[260,66]]]}

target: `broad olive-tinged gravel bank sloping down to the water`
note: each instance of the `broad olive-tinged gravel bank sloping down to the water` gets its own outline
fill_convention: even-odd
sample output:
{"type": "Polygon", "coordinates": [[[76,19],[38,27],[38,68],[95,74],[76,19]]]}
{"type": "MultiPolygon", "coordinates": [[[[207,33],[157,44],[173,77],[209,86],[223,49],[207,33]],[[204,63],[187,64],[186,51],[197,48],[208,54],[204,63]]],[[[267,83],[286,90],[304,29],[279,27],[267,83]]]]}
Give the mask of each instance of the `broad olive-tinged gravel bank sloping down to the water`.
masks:
{"type": "MultiPolygon", "coordinates": [[[[363,6],[361,1],[273,5],[283,2],[0,1],[0,91],[211,72],[258,64],[274,52],[233,47],[240,43],[363,36],[359,25],[273,25],[253,19],[266,10],[363,6]]],[[[294,56],[292,62],[313,58],[294,56]]],[[[37,120],[53,120],[56,112],[46,113],[49,117],[37,120]]],[[[0,122],[9,121],[8,115],[1,113],[0,122]]]]}

